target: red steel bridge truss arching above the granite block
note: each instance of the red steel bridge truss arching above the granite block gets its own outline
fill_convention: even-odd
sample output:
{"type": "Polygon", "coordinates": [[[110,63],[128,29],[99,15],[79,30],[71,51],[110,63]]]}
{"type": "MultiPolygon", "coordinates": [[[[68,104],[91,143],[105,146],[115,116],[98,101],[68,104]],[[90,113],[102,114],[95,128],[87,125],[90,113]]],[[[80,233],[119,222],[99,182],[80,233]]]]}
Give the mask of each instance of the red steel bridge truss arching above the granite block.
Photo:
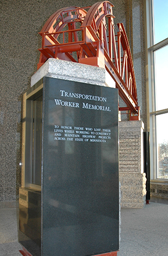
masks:
{"type": "Polygon", "coordinates": [[[46,21],[39,33],[42,47],[38,69],[48,58],[57,58],[103,67],[119,89],[130,113],[130,120],[140,119],[136,79],[129,42],[123,24],[115,35],[113,4],[109,1],[91,7],[65,7],[46,21]]]}

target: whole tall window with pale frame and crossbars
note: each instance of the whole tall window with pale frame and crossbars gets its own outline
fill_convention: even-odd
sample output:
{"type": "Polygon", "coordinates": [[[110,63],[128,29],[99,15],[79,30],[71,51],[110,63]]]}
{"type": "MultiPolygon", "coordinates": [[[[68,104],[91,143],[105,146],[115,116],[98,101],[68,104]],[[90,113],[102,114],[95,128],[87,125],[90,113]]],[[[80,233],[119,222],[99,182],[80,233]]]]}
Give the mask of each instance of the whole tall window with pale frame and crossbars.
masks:
{"type": "Polygon", "coordinates": [[[168,179],[168,2],[146,0],[151,178],[168,179]]]}

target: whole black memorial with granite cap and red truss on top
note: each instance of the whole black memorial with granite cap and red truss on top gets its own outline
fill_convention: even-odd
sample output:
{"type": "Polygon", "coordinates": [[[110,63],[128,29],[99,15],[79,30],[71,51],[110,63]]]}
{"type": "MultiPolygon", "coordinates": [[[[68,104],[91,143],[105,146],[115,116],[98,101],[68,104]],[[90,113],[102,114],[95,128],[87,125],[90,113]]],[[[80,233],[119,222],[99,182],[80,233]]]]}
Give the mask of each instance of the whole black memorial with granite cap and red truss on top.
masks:
{"type": "Polygon", "coordinates": [[[40,32],[23,105],[22,255],[119,250],[118,94],[130,119],[139,119],[139,106],[128,39],[119,24],[116,46],[112,7],[62,8],[40,32]]]}

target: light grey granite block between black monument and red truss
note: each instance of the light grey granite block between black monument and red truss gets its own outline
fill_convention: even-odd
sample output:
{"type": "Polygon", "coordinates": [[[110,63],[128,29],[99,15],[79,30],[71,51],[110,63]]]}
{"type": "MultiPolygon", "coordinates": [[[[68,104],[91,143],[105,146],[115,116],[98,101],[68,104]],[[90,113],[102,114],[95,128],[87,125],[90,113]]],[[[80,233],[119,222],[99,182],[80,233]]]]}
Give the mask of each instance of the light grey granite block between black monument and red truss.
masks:
{"type": "Polygon", "coordinates": [[[44,76],[115,88],[115,81],[105,68],[66,60],[48,59],[31,77],[31,86],[44,76]]]}

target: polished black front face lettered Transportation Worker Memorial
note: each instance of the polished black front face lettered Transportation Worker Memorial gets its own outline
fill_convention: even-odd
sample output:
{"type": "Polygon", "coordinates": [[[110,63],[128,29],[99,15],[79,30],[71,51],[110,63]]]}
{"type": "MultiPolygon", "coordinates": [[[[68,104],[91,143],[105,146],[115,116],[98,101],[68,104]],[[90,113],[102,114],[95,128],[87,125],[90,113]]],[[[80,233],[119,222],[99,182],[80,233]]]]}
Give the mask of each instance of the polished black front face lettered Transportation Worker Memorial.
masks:
{"type": "Polygon", "coordinates": [[[45,78],[42,142],[42,255],[118,250],[118,90],[45,78]]]}

